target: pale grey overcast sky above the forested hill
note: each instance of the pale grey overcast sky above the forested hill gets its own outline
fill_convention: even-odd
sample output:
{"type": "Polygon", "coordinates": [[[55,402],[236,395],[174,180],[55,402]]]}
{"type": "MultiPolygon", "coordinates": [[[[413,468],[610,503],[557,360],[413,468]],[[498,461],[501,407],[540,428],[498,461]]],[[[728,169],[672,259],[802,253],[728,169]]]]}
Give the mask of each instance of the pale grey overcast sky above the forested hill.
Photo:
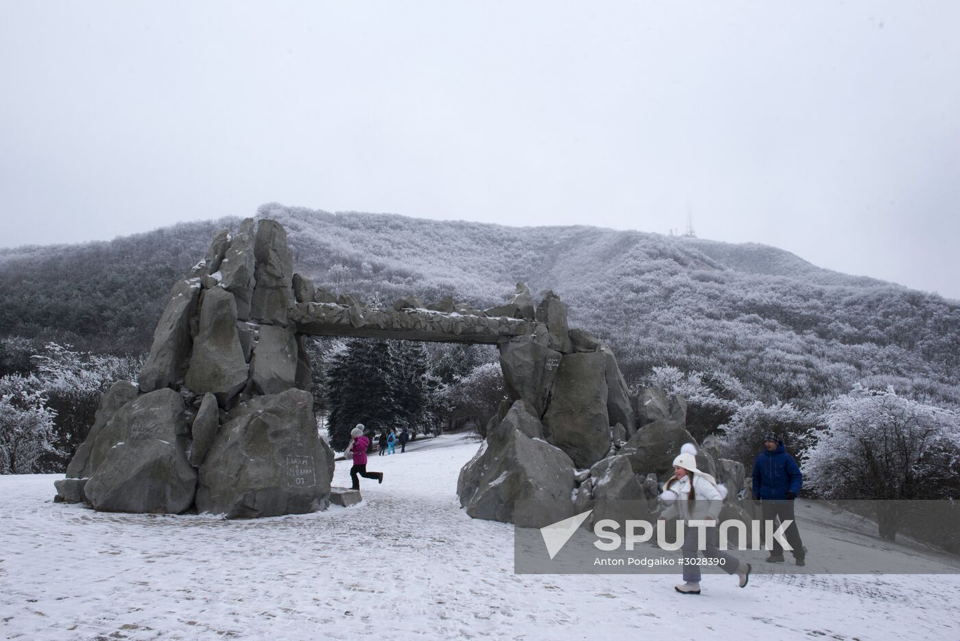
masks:
{"type": "Polygon", "coordinates": [[[0,247],[264,202],[757,242],[960,298],[960,3],[0,0],[0,247]]]}

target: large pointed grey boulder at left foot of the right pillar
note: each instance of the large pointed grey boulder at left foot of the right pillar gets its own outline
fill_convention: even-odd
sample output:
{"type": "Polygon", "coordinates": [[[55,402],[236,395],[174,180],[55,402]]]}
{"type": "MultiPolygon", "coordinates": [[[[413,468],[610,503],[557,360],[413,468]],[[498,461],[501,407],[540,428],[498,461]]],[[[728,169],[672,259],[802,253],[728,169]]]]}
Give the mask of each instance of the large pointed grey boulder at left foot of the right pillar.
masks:
{"type": "Polygon", "coordinates": [[[540,528],[572,514],[573,462],[542,439],[542,426],[523,401],[492,428],[460,472],[460,505],[473,518],[540,528]],[[530,501],[515,510],[516,501],[530,501]]]}

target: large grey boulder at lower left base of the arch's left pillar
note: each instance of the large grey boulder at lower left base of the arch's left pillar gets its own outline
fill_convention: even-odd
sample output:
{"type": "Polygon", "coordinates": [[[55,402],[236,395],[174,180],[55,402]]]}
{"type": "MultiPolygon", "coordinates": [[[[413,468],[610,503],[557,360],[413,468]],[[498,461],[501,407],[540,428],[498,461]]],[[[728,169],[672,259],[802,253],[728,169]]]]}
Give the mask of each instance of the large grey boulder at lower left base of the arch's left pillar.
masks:
{"type": "MultiPolygon", "coordinates": [[[[193,505],[197,472],[187,461],[189,428],[183,400],[173,390],[144,394],[108,422],[120,440],[84,486],[96,510],[180,513],[193,505]]],[[[105,430],[106,432],[107,430],[105,430]]]]}

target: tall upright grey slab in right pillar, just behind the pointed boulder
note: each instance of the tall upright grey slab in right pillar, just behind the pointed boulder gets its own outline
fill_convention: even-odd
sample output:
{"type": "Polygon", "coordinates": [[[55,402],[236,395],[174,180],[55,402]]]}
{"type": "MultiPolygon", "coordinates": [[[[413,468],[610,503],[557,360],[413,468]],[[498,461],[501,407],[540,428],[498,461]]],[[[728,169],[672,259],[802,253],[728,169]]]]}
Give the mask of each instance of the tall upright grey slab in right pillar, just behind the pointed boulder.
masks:
{"type": "Polygon", "coordinates": [[[607,359],[600,352],[564,354],[543,415],[547,439],[577,467],[589,467],[610,450],[606,368],[607,359]]]}

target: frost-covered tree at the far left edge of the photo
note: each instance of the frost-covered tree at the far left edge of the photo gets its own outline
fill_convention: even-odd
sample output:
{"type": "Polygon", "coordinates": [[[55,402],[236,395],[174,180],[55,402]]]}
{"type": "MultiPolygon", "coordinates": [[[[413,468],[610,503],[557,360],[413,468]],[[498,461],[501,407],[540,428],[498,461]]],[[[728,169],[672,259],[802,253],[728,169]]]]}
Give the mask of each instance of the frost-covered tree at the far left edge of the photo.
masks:
{"type": "Polygon", "coordinates": [[[46,407],[33,374],[0,377],[0,474],[33,474],[44,469],[40,458],[58,454],[56,412],[46,407]]]}

